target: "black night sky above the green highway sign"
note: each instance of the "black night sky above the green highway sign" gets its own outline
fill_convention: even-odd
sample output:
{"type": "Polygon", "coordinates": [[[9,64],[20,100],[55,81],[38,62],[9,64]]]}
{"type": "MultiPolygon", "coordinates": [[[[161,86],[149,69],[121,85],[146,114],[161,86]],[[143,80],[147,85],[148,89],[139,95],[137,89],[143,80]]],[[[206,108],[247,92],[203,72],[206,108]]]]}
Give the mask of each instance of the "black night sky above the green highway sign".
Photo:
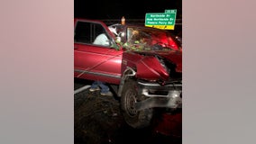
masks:
{"type": "Polygon", "coordinates": [[[144,19],[146,13],[164,13],[177,9],[181,18],[182,0],[75,0],[74,16],[89,19],[144,19]]]}

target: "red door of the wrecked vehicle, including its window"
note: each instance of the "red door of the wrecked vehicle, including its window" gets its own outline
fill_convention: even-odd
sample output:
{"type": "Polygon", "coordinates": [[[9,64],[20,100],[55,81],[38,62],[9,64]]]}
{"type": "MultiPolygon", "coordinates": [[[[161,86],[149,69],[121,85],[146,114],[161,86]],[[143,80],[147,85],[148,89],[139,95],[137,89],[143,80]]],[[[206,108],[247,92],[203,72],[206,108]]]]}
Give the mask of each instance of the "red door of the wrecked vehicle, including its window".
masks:
{"type": "Polygon", "coordinates": [[[123,50],[111,47],[114,38],[105,29],[101,23],[75,24],[74,76],[119,84],[123,50]]]}

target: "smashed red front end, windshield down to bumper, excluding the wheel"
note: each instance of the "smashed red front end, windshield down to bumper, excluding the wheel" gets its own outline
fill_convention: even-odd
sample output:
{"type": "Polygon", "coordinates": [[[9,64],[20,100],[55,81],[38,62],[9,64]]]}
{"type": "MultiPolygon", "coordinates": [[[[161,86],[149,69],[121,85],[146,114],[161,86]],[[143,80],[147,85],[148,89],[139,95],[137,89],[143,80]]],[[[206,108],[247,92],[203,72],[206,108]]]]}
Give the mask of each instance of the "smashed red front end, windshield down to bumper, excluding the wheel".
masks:
{"type": "MultiPolygon", "coordinates": [[[[182,49],[167,31],[127,28],[123,69],[133,69],[138,93],[147,97],[136,110],[181,108],[182,49]]],[[[125,70],[124,70],[125,71],[125,70]]]]}

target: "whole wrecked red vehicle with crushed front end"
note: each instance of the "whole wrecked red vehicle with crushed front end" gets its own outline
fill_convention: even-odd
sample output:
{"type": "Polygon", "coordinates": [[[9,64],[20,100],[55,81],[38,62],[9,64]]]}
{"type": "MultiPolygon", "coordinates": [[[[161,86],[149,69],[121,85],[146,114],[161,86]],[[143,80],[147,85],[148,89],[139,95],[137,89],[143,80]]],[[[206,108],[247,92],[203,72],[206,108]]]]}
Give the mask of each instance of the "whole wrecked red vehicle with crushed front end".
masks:
{"type": "Polygon", "coordinates": [[[157,107],[181,108],[182,49],[169,31],[78,18],[74,25],[74,76],[110,84],[130,126],[149,126],[157,107]],[[94,44],[101,33],[106,44],[94,44]]]}

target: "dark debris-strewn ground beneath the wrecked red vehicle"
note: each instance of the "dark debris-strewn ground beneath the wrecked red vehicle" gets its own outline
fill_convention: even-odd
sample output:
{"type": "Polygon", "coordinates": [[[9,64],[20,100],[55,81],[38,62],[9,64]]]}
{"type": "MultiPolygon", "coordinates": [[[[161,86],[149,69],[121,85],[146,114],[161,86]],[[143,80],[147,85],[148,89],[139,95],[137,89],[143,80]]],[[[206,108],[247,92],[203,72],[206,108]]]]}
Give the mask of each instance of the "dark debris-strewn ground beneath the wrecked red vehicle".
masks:
{"type": "Polygon", "coordinates": [[[85,90],[74,97],[75,144],[181,144],[181,115],[160,112],[148,128],[133,129],[123,121],[118,98],[85,90]],[[169,129],[172,128],[172,129],[169,129]]]}

